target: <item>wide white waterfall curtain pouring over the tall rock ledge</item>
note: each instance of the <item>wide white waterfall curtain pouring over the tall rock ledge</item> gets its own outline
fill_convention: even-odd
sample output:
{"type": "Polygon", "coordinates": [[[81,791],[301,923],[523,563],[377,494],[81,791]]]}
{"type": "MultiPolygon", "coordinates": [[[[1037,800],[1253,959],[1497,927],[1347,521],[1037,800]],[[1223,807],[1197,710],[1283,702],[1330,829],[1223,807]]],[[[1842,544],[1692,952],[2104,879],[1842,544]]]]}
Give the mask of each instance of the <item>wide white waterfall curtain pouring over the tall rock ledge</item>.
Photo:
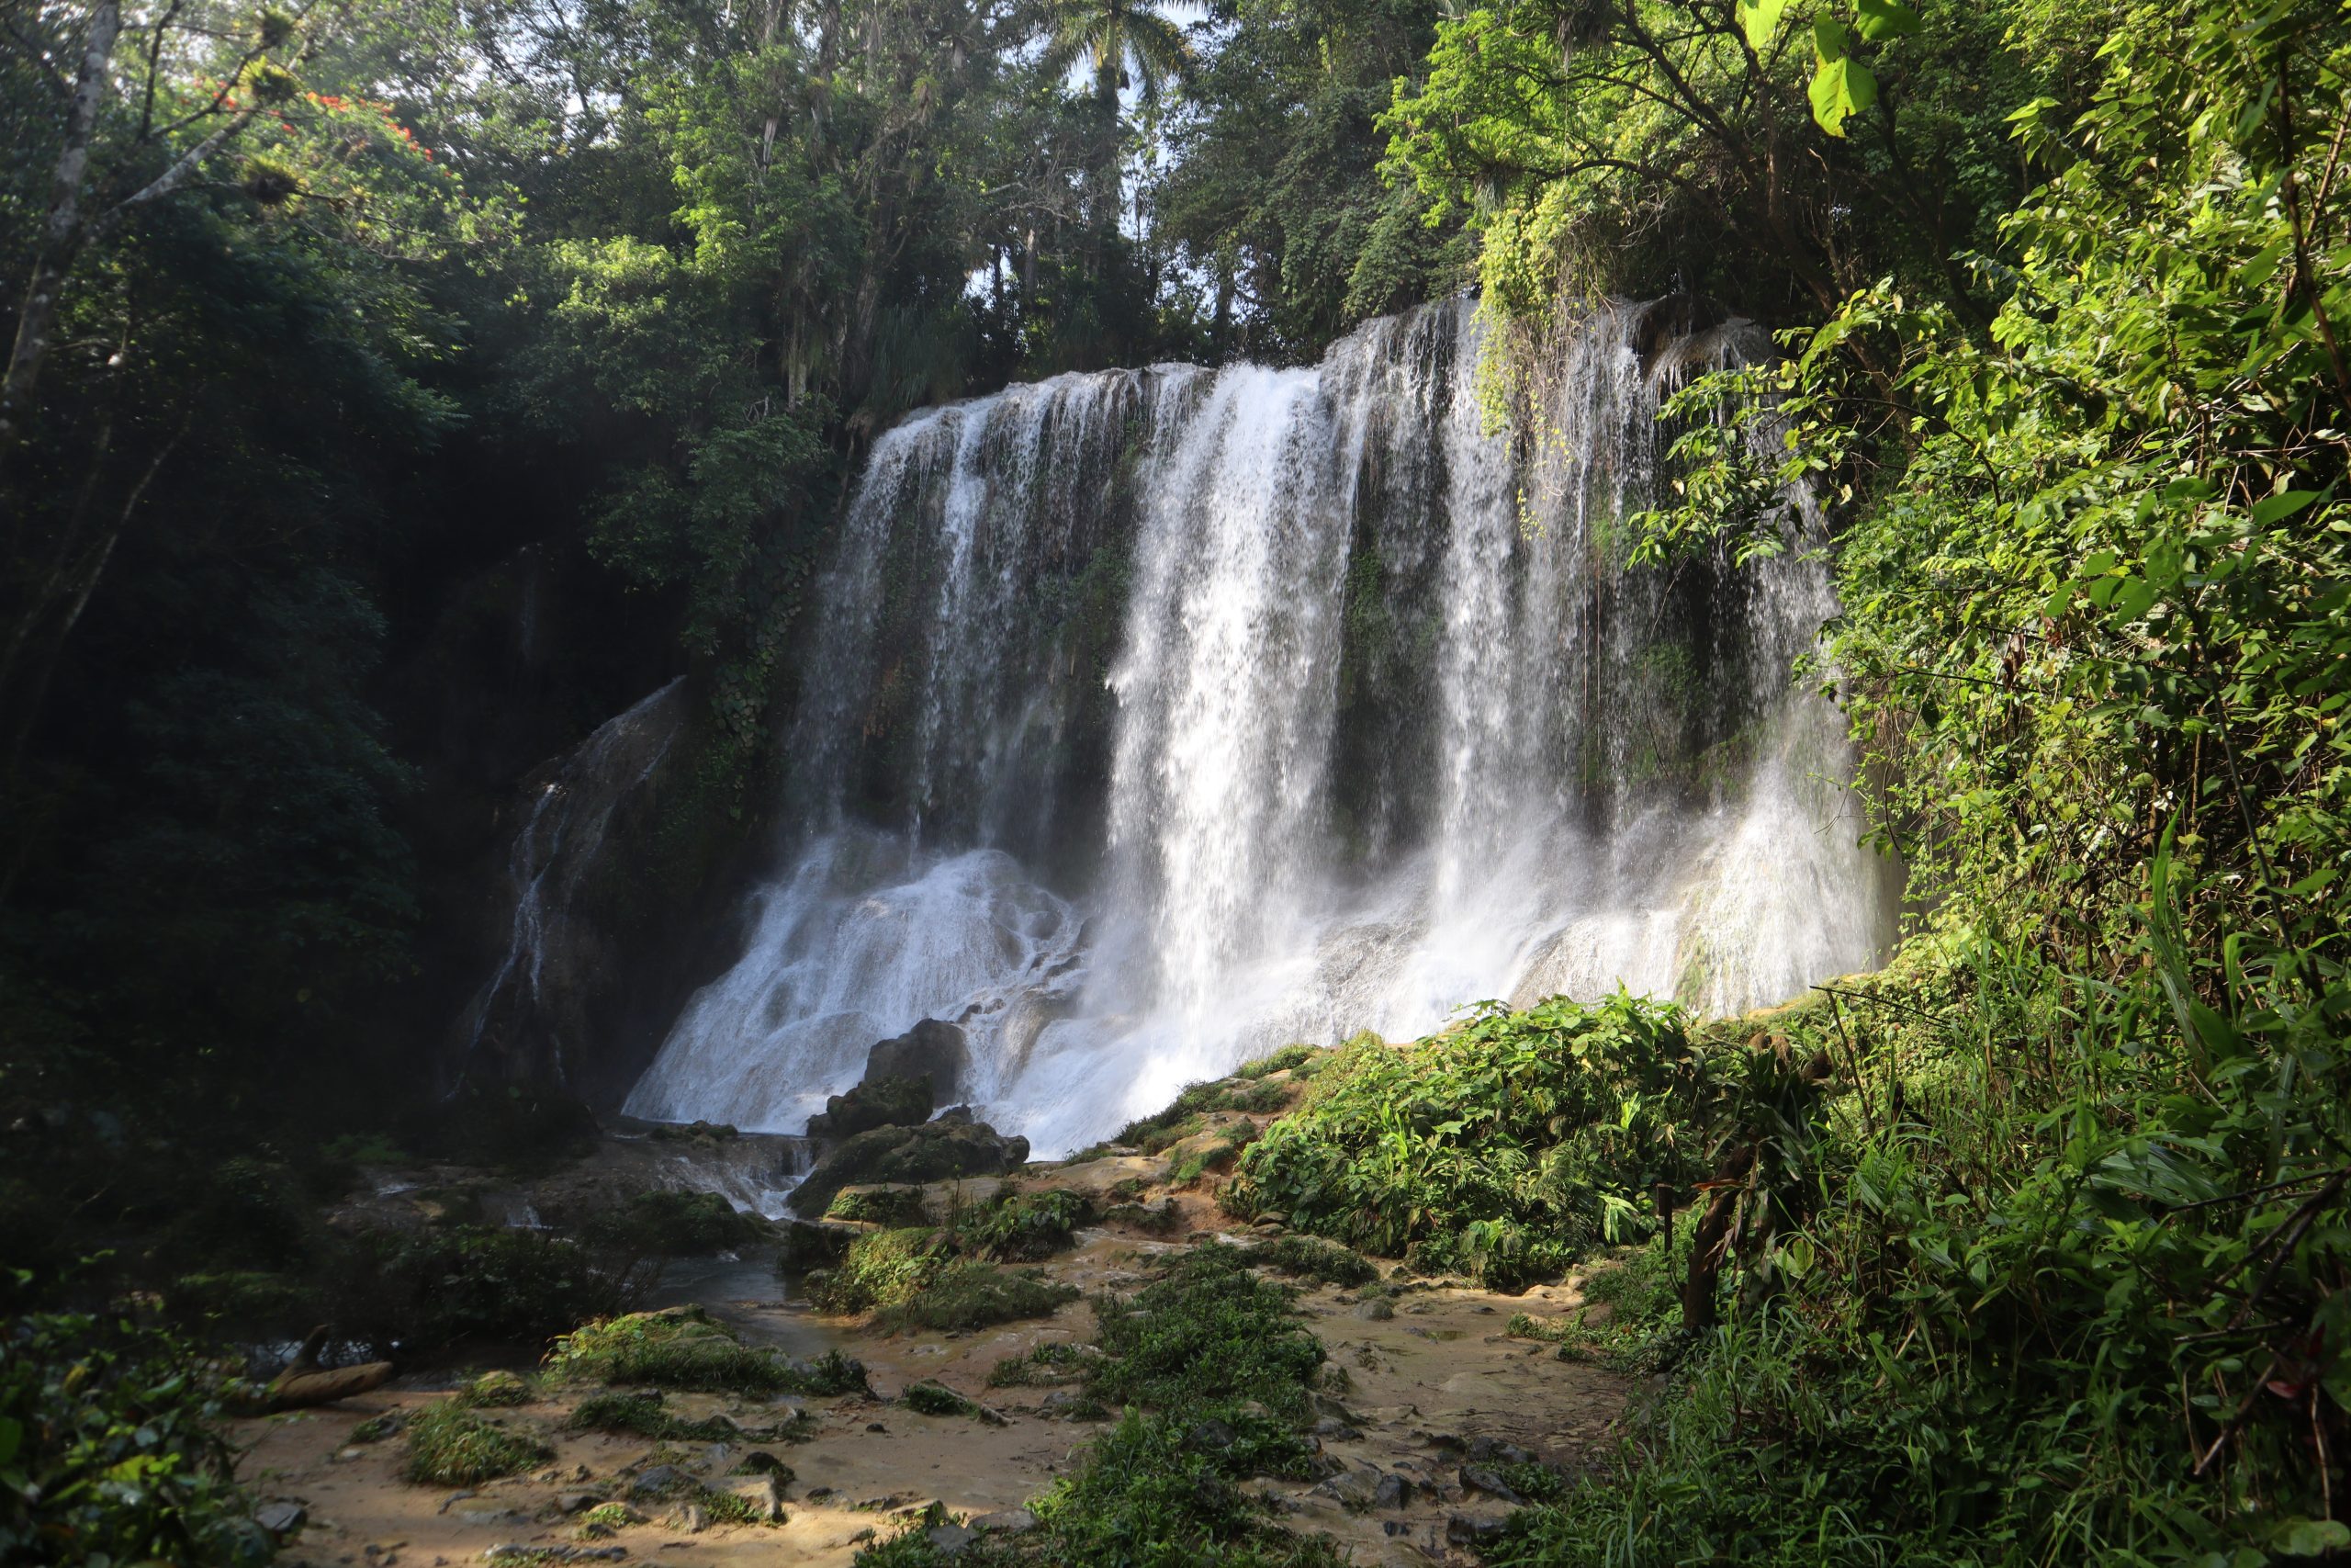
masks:
{"type": "Polygon", "coordinates": [[[1060,376],[882,437],[797,860],[628,1110],[797,1131],[947,1018],[966,1098],[1051,1154],[1288,1039],[1869,964],[1850,752],[1794,679],[1824,569],[1615,562],[1662,390],[1761,339],[1643,331],[1566,339],[1538,440],[1486,428],[1467,301],[1312,371],[1060,376]]]}

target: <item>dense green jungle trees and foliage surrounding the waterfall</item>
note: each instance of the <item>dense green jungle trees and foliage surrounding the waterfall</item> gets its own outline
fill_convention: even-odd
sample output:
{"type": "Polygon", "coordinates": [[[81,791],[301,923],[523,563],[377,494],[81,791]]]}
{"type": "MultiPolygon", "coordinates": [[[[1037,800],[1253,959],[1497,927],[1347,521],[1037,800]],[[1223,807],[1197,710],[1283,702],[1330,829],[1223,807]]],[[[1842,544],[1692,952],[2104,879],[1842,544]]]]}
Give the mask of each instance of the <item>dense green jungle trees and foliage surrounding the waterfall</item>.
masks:
{"type": "MultiPolygon", "coordinates": [[[[679,853],[736,842],[903,409],[1476,287],[1507,411],[1575,301],[1690,292],[1787,353],[1681,393],[1622,548],[1813,487],[1902,950],[1354,1046],[1230,1201],[1641,1248],[1601,1352],[1667,1382],[1498,1563],[2351,1549],[2346,73],[2325,0],[7,7],[0,1291],[327,1267],[287,1215],[437,1084],[437,811],[689,672],[679,853]],[[595,628],[536,684],[447,632],[524,548],[595,628]]],[[[263,1549],[176,1345],[9,1352],[0,1547],[263,1549]]]]}

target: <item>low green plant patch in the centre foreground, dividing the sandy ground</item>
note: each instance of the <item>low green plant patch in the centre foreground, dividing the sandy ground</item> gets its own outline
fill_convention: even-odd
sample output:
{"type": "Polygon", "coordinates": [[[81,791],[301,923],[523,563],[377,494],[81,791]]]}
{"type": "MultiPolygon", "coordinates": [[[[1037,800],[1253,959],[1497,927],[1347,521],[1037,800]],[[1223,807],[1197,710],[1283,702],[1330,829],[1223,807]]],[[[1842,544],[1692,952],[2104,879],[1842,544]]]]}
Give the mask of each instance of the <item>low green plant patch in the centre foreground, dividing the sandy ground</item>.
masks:
{"type": "MultiPolygon", "coordinates": [[[[1312,1441],[1295,1429],[1312,1408],[1324,1352],[1298,1324],[1291,1293],[1248,1272],[1237,1248],[1197,1248],[1131,1298],[1100,1298],[1100,1354],[1039,1347],[1025,1363],[1081,1371],[1089,1389],[1126,1401],[1079,1467],[1030,1500],[1037,1528],[980,1535],[959,1568],[1338,1568],[1328,1537],[1279,1528],[1272,1505],[1241,1483],[1310,1479],[1312,1441]]],[[[1002,1366],[999,1366],[1002,1371],[1002,1366]]],[[[1006,1382],[1027,1382],[1027,1373],[1006,1382]]],[[[994,1382],[994,1378],[992,1378],[994,1382]]],[[[943,1519],[858,1554],[858,1568],[933,1568],[926,1540],[943,1519]]]]}

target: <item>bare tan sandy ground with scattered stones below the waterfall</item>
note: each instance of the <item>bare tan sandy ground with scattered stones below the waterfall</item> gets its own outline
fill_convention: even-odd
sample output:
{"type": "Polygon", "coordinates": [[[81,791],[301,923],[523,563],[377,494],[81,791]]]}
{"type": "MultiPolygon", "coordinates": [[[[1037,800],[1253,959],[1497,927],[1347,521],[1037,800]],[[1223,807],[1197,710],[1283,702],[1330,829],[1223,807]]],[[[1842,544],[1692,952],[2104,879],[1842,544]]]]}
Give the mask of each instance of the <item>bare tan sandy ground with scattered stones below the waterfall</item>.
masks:
{"type": "MultiPolygon", "coordinates": [[[[1063,1173],[1044,1171],[1023,1185],[1107,1187],[1166,1171],[1159,1159],[1103,1159],[1063,1173]]],[[[983,1197],[966,1182],[966,1201],[983,1197]]],[[[1081,1246],[1046,1265],[1081,1291],[1128,1291],[1145,1284],[1152,1255],[1220,1234],[1220,1220],[1197,1192],[1173,1194],[1180,1225],[1173,1239],[1081,1232],[1081,1246]]],[[[936,1201],[952,1201],[943,1190],[936,1201]]],[[[1237,1237],[1248,1239],[1248,1237],[1237,1237]]],[[[353,1432],[386,1410],[416,1410],[442,1396],[454,1378],[395,1382],[343,1406],[242,1422],[249,1446],[240,1472],[268,1500],[303,1509],[284,1561],[296,1568],[456,1568],[484,1563],[498,1547],[574,1552],[677,1566],[846,1566],[860,1547],[915,1521],[940,1502],[955,1516],[1004,1516],[1018,1526],[1027,1497],[1049,1488],[1081,1458],[1098,1422],[1074,1420],[1058,1406],[1067,1392],[987,1387],[999,1359],[1039,1342],[1086,1342],[1093,1309],[1086,1300],[1051,1319],[1006,1324],[964,1335],[877,1335],[856,1319],[823,1319],[757,1265],[686,1267],[663,1293],[696,1300],[748,1342],[776,1345],[797,1356],[842,1347],[868,1366],[875,1399],[745,1399],[672,1394],[686,1418],[726,1413],[745,1427],[776,1425],[806,1410],[809,1441],[759,1446],[790,1472],[778,1488],[773,1523],[710,1523],[691,1507],[642,1500],[639,1523],[609,1533],[583,1528],[588,1507],[628,1500],[630,1486],[656,1467],[675,1467],[710,1486],[755,1486],[736,1479],[748,1443],[668,1443],[574,1432],[567,1425],[578,1392],[550,1394],[501,1422],[536,1434],[555,1462],[477,1488],[411,1486],[402,1479],[404,1443],[353,1441],[353,1432]],[[917,1380],[943,1382],[1002,1420],[919,1415],[896,1394],[917,1380]],[[1060,1394],[1056,1399],[1056,1394],[1060,1394]]],[[[1599,1455],[1610,1441],[1627,1382],[1594,1366],[1566,1363],[1549,1345],[1502,1333],[1509,1314],[1556,1316],[1580,1305],[1575,1281],[1523,1295],[1476,1288],[1411,1288],[1385,1307],[1359,1302],[1340,1288],[1300,1295],[1307,1326],[1324,1340],[1347,1378],[1324,1399],[1317,1441],[1326,1474],[1310,1483],[1260,1481],[1284,1523],[1328,1533],[1357,1563],[1472,1563],[1467,1540],[1491,1528],[1507,1502],[1465,1483],[1465,1469],[1495,1443],[1521,1448],[1563,1469],[1599,1455]],[[1481,1441],[1483,1439],[1483,1441],[1481,1441]]],[[[766,1495],[762,1493],[762,1502],[766,1495]]]]}

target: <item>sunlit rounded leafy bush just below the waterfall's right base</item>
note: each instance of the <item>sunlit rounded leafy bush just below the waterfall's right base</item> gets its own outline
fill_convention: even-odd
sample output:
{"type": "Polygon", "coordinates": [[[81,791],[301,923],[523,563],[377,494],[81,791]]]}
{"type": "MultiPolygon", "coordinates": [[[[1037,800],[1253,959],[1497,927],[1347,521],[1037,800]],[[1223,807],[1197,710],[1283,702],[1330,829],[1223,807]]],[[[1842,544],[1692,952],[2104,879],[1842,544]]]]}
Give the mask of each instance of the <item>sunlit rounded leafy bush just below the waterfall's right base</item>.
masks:
{"type": "Polygon", "coordinates": [[[1702,1171],[1709,1074],[1679,1009],[1617,994],[1486,1006],[1411,1046],[1352,1044],[1225,1187],[1234,1213],[1498,1288],[1643,1234],[1702,1171]]]}

